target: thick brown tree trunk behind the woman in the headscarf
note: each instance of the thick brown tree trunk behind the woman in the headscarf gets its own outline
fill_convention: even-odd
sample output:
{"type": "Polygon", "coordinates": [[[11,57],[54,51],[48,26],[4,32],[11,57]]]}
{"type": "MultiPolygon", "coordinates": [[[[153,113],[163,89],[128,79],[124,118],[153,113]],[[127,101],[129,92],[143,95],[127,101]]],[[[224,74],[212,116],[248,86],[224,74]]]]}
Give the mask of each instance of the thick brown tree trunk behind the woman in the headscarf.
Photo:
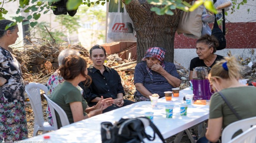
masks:
{"type": "Polygon", "coordinates": [[[166,49],[165,61],[173,62],[174,36],[180,20],[181,10],[174,10],[174,15],[157,15],[150,10],[153,5],[138,0],[131,0],[125,5],[137,33],[137,62],[140,62],[150,47],[166,49]]]}

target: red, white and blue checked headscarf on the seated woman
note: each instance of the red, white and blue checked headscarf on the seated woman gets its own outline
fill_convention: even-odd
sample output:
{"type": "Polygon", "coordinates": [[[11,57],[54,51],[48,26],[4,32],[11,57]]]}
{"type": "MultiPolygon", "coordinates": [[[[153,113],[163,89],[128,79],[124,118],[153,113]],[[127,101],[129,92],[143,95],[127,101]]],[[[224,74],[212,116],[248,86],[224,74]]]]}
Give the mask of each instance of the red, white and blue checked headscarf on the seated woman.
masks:
{"type": "MultiPolygon", "coordinates": [[[[147,49],[147,52],[144,56],[144,58],[142,59],[142,61],[146,61],[147,57],[152,57],[152,58],[156,58],[157,60],[159,60],[161,62],[161,66],[164,68],[164,55],[165,55],[166,50],[164,48],[161,47],[152,47],[147,49]]],[[[149,67],[147,66],[147,71],[150,75],[151,80],[153,80],[153,75],[152,75],[152,71],[149,69],[149,67]]]]}

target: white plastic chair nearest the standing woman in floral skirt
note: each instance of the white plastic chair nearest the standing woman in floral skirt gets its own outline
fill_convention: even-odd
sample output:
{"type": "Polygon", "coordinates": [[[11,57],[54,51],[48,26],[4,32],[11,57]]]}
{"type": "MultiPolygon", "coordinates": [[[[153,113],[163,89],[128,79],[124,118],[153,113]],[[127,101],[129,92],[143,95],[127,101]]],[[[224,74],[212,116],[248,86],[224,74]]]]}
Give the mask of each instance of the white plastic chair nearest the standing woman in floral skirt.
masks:
{"type": "Polygon", "coordinates": [[[28,95],[30,104],[34,113],[34,132],[33,136],[38,135],[38,131],[47,133],[48,131],[55,130],[48,122],[43,119],[43,107],[40,95],[40,89],[47,93],[47,87],[41,83],[29,83],[25,86],[25,91],[28,95]]]}

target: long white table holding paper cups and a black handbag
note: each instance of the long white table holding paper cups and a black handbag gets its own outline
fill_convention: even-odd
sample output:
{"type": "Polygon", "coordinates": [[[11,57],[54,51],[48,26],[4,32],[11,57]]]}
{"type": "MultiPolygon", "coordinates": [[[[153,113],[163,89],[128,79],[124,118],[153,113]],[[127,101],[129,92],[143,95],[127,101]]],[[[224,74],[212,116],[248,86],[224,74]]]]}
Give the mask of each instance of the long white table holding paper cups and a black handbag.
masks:
{"type": "MultiPolygon", "coordinates": [[[[100,123],[104,121],[119,121],[123,118],[144,116],[145,112],[154,112],[154,124],[157,126],[164,138],[168,138],[184,131],[208,119],[209,106],[189,105],[187,116],[180,116],[180,107],[185,94],[191,94],[189,88],[181,90],[179,97],[172,97],[172,101],[166,102],[165,98],[158,99],[157,108],[152,108],[149,101],[136,102],[129,106],[106,112],[88,119],[69,124],[57,131],[46,133],[40,136],[29,138],[26,141],[43,141],[44,135],[54,138],[56,143],[101,143],[100,123]],[[165,117],[164,105],[173,104],[173,118],[165,117]]],[[[148,127],[146,132],[152,135],[152,130],[148,127]]],[[[148,142],[147,139],[145,141],[148,142]]],[[[154,142],[159,142],[157,139],[154,142]]]]}

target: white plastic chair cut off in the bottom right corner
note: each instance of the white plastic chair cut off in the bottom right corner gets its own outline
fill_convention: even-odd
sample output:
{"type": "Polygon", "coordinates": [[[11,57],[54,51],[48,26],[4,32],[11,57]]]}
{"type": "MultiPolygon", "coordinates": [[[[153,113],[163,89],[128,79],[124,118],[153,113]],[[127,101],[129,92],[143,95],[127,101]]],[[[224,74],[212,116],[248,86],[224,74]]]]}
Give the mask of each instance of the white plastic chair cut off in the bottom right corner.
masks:
{"type": "Polygon", "coordinates": [[[239,134],[228,143],[256,143],[256,125],[239,134]]]}

